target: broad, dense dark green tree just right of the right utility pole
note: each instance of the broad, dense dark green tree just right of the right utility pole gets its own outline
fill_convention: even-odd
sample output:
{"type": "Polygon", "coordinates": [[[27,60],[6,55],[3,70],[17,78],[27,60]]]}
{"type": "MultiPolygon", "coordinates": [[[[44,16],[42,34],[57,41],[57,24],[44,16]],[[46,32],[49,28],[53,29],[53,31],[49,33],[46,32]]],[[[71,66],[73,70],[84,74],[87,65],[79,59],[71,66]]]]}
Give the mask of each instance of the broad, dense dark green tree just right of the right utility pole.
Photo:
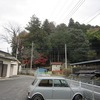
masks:
{"type": "Polygon", "coordinates": [[[68,57],[71,62],[87,60],[89,41],[80,29],[68,30],[68,57]]]}

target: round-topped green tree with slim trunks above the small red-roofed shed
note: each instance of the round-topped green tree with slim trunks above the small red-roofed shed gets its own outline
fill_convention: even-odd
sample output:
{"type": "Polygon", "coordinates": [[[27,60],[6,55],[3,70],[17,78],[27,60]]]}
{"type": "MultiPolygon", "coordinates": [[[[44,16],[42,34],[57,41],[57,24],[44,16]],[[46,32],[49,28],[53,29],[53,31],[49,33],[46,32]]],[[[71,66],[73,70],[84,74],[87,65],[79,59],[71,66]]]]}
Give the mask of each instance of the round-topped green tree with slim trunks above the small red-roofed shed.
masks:
{"type": "Polygon", "coordinates": [[[64,61],[64,45],[67,43],[67,37],[67,26],[65,24],[58,25],[55,32],[50,34],[48,40],[51,61],[64,61]]]}

